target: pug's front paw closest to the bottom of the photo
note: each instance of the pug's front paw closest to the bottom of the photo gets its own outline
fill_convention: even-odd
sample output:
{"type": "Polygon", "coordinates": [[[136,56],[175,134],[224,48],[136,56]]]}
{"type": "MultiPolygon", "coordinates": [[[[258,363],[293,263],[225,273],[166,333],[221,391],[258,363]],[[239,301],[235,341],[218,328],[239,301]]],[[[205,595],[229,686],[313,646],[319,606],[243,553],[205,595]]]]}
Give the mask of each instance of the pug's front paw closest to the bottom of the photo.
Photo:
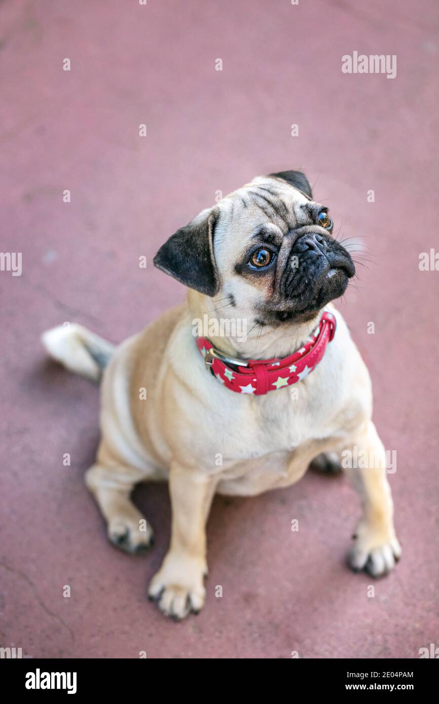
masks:
{"type": "Polygon", "coordinates": [[[206,574],[204,559],[168,553],[161,569],[152,578],[148,596],[156,601],[163,614],[179,621],[203,608],[206,574]]]}

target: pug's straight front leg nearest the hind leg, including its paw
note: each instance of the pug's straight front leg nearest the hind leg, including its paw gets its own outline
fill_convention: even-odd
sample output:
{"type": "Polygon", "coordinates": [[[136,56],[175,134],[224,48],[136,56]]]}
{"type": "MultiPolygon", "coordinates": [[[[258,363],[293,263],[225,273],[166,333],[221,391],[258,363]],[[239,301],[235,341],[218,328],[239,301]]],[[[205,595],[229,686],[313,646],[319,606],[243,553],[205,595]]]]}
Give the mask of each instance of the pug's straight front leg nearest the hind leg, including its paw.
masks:
{"type": "Polygon", "coordinates": [[[149,598],[175,619],[184,618],[190,611],[197,613],[204,605],[206,521],[216,482],[216,477],[171,465],[171,546],[149,585],[149,598]]]}

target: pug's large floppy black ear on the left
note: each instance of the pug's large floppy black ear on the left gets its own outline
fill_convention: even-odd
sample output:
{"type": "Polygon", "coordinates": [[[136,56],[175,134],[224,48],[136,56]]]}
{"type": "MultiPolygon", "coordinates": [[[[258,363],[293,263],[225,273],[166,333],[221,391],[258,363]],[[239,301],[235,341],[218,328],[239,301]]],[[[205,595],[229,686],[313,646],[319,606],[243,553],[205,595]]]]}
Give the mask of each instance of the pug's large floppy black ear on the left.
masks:
{"type": "Polygon", "coordinates": [[[219,289],[214,259],[214,229],[218,212],[180,227],[154,257],[154,265],[190,289],[215,296],[219,289]]]}

